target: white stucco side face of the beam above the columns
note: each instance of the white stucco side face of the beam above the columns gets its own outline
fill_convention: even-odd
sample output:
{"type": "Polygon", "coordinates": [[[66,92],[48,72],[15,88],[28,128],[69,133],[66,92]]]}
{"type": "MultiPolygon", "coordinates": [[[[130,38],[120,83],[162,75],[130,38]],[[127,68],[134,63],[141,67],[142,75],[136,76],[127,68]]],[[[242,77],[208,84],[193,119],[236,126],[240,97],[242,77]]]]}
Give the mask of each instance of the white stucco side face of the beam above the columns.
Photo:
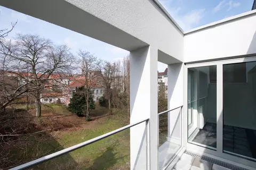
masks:
{"type": "Polygon", "coordinates": [[[153,1],[66,1],[182,60],[183,33],[153,1]]]}

